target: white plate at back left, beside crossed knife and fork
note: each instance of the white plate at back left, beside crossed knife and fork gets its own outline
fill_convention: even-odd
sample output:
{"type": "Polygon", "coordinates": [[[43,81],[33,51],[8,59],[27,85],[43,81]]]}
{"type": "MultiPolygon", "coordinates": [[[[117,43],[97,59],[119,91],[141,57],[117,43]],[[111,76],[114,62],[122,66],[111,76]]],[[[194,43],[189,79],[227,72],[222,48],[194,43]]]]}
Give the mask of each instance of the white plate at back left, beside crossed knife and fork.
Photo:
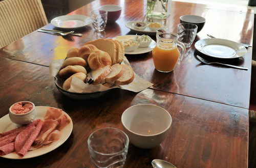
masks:
{"type": "Polygon", "coordinates": [[[62,29],[75,29],[86,26],[91,22],[91,18],[84,15],[63,15],[51,20],[54,26],[62,29]]]}

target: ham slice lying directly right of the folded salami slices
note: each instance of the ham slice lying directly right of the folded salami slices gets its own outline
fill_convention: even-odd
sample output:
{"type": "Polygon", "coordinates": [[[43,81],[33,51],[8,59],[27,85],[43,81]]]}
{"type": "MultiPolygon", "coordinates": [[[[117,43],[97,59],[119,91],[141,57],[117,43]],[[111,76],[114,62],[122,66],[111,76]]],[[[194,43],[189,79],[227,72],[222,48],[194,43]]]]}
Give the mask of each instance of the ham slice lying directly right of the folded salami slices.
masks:
{"type": "Polygon", "coordinates": [[[47,136],[56,128],[58,122],[55,120],[46,120],[44,125],[42,125],[42,129],[35,139],[34,144],[42,144],[45,141],[47,136]]]}

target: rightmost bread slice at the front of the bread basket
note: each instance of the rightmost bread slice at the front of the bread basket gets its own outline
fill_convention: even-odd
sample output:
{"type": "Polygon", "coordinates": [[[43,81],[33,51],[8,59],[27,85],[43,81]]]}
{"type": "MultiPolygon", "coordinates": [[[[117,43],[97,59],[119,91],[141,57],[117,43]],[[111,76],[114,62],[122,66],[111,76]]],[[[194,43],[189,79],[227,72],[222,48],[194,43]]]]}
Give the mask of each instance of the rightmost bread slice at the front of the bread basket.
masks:
{"type": "Polygon", "coordinates": [[[123,69],[124,72],[123,72],[121,77],[116,79],[115,85],[118,85],[118,86],[120,86],[120,85],[128,85],[134,79],[133,69],[129,65],[122,64],[121,66],[122,66],[122,69],[123,69]]]}

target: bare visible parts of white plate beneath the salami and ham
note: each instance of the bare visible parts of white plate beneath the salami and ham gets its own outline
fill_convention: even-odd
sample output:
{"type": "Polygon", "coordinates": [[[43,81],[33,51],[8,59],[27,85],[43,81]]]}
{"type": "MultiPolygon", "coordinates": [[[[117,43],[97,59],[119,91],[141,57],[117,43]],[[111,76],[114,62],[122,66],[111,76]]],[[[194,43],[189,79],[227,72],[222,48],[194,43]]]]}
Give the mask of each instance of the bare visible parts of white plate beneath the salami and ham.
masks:
{"type": "MultiPolygon", "coordinates": [[[[47,111],[47,106],[36,106],[36,109],[37,109],[36,119],[43,119],[46,114],[46,111],[47,111]]],[[[46,153],[51,152],[52,150],[58,148],[61,144],[63,144],[68,139],[68,137],[70,136],[72,129],[73,129],[73,123],[72,123],[71,118],[69,117],[69,115],[67,113],[65,113],[65,114],[68,116],[68,118],[70,119],[71,122],[60,131],[61,137],[59,138],[58,141],[54,142],[50,146],[42,147],[42,148],[36,149],[34,151],[28,151],[28,153],[24,157],[18,156],[15,152],[9,153],[9,154],[1,156],[1,157],[8,158],[8,159],[28,159],[28,158],[46,154],[46,153]]],[[[6,132],[6,131],[12,130],[14,128],[17,128],[17,125],[14,124],[13,122],[11,122],[11,120],[9,119],[9,115],[5,115],[4,117],[2,117],[0,119],[0,132],[6,132]]]]}

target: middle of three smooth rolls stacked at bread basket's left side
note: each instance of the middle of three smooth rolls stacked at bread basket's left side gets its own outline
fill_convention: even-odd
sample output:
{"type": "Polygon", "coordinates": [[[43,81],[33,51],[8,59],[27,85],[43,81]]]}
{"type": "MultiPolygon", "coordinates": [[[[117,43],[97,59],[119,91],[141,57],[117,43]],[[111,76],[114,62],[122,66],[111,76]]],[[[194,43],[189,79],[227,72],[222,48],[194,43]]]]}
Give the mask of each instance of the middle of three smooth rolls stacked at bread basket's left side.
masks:
{"type": "Polygon", "coordinates": [[[59,71],[59,76],[62,78],[68,78],[69,76],[82,72],[84,74],[87,74],[86,68],[80,66],[80,65],[69,65],[59,71]]]}

